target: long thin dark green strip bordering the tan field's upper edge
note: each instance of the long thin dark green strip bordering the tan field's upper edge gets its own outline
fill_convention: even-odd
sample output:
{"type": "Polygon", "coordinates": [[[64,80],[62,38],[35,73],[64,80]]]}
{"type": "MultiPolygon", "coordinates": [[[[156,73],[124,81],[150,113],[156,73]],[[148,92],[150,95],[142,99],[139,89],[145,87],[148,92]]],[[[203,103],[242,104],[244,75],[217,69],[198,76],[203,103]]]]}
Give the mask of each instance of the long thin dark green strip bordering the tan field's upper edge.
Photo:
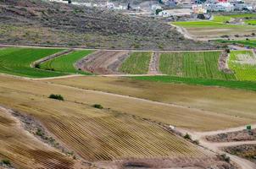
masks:
{"type": "Polygon", "coordinates": [[[131,77],[131,79],[140,79],[140,80],[164,82],[164,83],[178,83],[178,84],[186,84],[186,85],[219,86],[219,87],[226,87],[231,89],[256,91],[256,83],[250,82],[250,81],[181,78],[181,77],[174,77],[174,76],[141,76],[141,77],[131,77]]]}

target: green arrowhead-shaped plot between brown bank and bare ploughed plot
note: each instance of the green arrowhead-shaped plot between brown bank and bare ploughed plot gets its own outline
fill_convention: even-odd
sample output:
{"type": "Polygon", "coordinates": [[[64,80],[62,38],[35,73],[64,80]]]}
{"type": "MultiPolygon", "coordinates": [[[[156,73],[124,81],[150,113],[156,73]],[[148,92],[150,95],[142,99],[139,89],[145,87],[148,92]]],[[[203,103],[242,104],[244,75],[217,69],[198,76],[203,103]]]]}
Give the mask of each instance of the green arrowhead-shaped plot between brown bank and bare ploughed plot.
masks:
{"type": "Polygon", "coordinates": [[[42,63],[40,65],[40,68],[70,74],[90,74],[81,70],[77,70],[74,64],[76,61],[80,60],[82,57],[86,57],[92,52],[93,51],[88,50],[71,52],[67,55],[63,55],[61,57],[56,57],[52,60],[49,60],[46,63],[42,63]]]}

